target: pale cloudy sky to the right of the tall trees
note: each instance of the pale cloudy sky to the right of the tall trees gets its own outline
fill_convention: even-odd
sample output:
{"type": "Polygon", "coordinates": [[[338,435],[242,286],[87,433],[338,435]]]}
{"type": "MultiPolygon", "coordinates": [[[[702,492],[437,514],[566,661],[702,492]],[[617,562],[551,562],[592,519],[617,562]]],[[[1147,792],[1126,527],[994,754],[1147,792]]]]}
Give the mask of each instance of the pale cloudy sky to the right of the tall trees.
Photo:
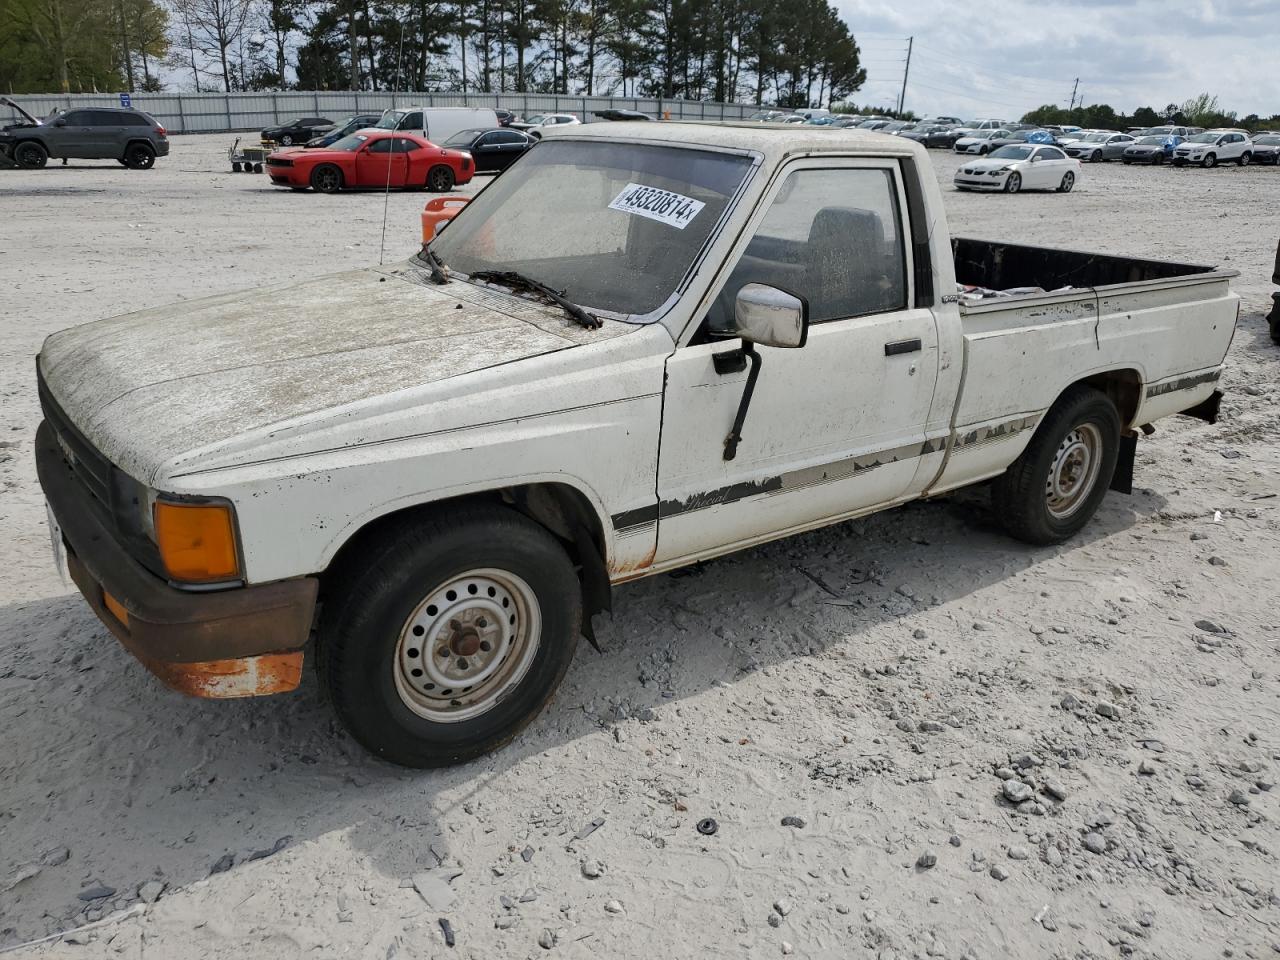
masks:
{"type": "Polygon", "coordinates": [[[1280,114],[1280,0],[833,0],[863,54],[851,100],[1016,119],[1078,97],[1157,111],[1210,92],[1240,116],[1280,114]]]}

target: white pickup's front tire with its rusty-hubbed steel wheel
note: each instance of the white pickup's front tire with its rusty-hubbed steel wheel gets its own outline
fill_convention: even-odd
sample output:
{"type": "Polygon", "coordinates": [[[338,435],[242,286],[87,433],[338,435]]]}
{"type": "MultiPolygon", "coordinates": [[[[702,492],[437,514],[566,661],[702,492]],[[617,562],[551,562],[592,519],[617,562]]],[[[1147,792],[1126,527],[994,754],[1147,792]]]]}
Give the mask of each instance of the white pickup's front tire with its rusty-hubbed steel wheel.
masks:
{"type": "Polygon", "coordinates": [[[392,763],[444,767],[503,746],[573,659],[582,600],[572,562],[506,507],[399,525],[330,579],[321,680],[351,735],[392,763]]]}

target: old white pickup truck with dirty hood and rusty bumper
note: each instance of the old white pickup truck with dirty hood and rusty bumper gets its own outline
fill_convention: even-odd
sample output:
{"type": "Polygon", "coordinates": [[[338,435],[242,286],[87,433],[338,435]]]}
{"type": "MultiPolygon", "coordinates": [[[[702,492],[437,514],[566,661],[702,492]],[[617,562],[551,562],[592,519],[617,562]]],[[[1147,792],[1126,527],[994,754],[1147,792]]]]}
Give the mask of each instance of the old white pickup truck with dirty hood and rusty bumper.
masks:
{"type": "Polygon", "coordinates": [[[37,465],[169,685],[293,689],[314,635],[362,745],[456,763],[611,585],[988,480],[1070,536],[1143,428],[1216,416],[1234,275],[952,239],[900,137],[582,125],[407,262],[54,334],[37,465]]]}

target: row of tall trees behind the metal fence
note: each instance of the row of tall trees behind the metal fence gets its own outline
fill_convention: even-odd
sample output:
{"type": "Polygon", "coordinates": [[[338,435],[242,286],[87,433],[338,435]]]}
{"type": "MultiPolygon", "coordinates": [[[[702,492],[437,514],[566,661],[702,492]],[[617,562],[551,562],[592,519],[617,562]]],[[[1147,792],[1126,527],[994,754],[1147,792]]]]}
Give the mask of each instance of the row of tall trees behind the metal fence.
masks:
{"type": "Polygon", "coordinates": [[[818,106],[867,72],[828,0],[0,0],[0,90],[612,95],[818,106]]]}

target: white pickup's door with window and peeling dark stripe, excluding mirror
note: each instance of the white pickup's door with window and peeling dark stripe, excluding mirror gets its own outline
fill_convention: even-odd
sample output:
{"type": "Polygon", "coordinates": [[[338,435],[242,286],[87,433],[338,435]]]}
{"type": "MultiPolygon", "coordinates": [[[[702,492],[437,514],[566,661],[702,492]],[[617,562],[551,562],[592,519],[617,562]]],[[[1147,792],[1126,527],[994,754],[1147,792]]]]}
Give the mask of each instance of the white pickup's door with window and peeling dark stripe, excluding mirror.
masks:
{"type": "Polygon", "coordinates": [[[771,539],[916,488],[938,375],[933,312],[914,308],[906,202],[888,160],[792,164],[713,285],[691,342],[667,361],[657,562],[771,539]],[[730,269],[732,268],[732,269],[730,269]],[[748,365],[737,291],[808,301],[808,343],[756,347],[760,370],[732,460],[724,439],[748,365]]]}

